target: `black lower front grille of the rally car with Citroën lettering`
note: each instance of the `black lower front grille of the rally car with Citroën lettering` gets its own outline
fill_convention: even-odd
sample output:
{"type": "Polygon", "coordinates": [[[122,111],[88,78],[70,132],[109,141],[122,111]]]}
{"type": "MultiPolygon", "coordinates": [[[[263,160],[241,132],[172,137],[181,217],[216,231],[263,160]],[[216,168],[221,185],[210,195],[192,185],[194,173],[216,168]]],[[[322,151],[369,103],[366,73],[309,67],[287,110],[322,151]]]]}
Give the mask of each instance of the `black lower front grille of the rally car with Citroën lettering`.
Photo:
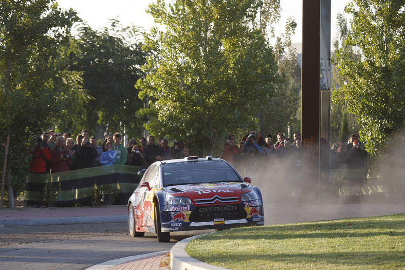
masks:
{"type": "Polygon", "coordinates": [[[245,209],[239,204],[199,206],[195,208],[189,220],[191,222],[213,221],[214,219],[244,219],[247,217],[245,209]]]}

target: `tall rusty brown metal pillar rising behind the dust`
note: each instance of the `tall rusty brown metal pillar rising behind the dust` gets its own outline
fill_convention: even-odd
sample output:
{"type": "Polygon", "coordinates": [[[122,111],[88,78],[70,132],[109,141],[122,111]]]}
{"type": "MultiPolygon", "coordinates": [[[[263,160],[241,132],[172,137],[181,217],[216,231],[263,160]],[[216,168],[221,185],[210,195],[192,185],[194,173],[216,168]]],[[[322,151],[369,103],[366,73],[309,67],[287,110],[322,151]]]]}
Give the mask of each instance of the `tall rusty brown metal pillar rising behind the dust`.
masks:
{"type": "Polygon", "coordinates": [[[302,142],[308,157],[303,164],[302,199],[319,201],[320,181],[320,10],[321,0],[302,5],[302,142]]]}

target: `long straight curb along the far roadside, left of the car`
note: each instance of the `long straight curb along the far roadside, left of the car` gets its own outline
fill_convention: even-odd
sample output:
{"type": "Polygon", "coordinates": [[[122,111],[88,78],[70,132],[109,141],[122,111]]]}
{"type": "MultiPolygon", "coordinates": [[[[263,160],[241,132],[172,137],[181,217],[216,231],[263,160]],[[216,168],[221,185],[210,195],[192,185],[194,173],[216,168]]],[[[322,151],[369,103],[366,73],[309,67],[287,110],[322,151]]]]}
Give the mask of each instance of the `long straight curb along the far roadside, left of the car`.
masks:
{"type": "Polygon", "coordinates": [[[109,223],[126,222],[126,215],[98,216],[98,217],[70,217],[45,219],[9,219],[0,220],[0,226],[33,226],[33,225],[66,225],[79,223],[109,223]]]}

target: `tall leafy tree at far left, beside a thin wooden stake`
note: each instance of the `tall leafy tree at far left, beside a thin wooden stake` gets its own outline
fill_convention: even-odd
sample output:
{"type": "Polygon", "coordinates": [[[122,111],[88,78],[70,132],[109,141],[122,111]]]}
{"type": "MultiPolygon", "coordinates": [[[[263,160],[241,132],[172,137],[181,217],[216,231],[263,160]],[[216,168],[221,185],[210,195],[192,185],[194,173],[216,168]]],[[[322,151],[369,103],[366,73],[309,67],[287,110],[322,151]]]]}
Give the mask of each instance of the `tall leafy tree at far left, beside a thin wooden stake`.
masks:
{"type": "Polygon", "coordinates": [[[88,95],[79,85],[80,73],[67,69],[76,12],[62,11],[50,0],[5,0],[0,11],[0,141],[7,138],[9,146],[0,160],[7,165],[2,183],[7,175],[13,207],[13,195],[24,188],[33,135],[88,95]]]}

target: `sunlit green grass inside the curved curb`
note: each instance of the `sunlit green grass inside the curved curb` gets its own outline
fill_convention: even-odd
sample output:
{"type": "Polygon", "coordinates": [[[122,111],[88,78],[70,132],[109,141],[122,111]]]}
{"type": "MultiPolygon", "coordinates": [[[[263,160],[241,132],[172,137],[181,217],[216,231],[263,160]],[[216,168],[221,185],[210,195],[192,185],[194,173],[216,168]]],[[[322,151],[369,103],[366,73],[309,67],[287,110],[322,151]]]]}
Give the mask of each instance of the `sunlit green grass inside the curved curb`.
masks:
{"type": "Polygon", "coordinates": [[[405,214],[229,229],[186,251],[235,270],[405,269],[405,214]]]}

